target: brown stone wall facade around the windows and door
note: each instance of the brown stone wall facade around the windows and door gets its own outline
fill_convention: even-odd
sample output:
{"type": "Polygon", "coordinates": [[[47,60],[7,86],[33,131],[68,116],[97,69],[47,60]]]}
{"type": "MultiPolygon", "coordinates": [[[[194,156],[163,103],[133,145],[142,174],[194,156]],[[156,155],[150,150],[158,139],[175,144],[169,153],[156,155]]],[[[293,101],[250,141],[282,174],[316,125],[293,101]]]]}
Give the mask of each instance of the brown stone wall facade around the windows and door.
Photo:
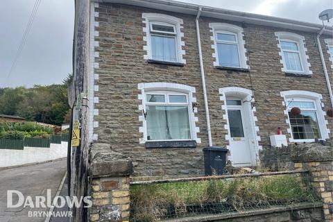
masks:
{"type": "MultiPolygon", "coordinates": [[[[94,109],[94,134],[98,142],[110,144],[112,151],[122,153],[133,160],[135,176],[194,176],[202,175],[203,152],[208,145],[207,123],[205,121],[205,105],[203,88],[200,78],[198,44],[196,39],[195,16],[184,15],[162,10],[125,6],[114,3],[93,3],[94,22],[94,80],[96,90],[94,96],[98,101],[94,109]],[[142,13],[154,12],[172,15],[183,20],[182,40],[185,45],[183,59],[184,67],[173,65],[152,64],[144,60],[144,31],[142,13]],[[98,34],[96,34],[98,33],[98,34]],[[96,43],[97,42],[97,43],[96,43]],[[141,100],[138,95],[141,90],[139,83],[180,83],[195,87],[197,110],[196,126],[200,128],[197,136],[201,142],[196,148],[145,148],[139,144],[142,133],[139,128],[142,121],[139,116],[141,100]],[[95,124],[96,123],[96,124],[95,124]]],[[[207,97],[210,109],[210,123],[214,146],[227,146],[225,136],[225,111],[221,106],[219,89],[223,87],[242,87],[251,89],[255,96],[255,116],[257,117],[257,136],[259,146],[269,148],[269,135],[274,134],[278,127],[282,133],[291,137],[287,132],[289,124],[282,105],[280,92],[285,90],[307,90],[323,96],[323,110],[330,106],[323,67],[314,41],[314,33],[284,30],[268,26],[241,24],[237,22],[200,17],[200,37],[203,51],[203,64],[206,76],[207,97]],[[244,40],[247,49],[250,71],[221,70],[213,66],[214,49],[211,40],[210,22],[225,22],[236,24],[244,29],[244,40]],[[286,76],[281,71],[282,64],[279,55],[278,40],[275,32],[290,31],[305,37],[308,62],[313,72],[311,78],[286,76]]],[[[322,38],[322,46],[325,47],[322,38]]],[[[327,38],[327,36],[326,36],[327,38]]],[[[323,49],[327,64],[330,64],[327,49],[323,49]]],[[[328,66],[328,65],[327,65],[328,66]]],[[[330,67],[327,67],[331,72],[330,67]]],[[[332,118],[325,116],[332,123],[332,118]]],[[[333,132],[333,124],[329,124],[333,132]]],[[[332,139],[332,134],[330,134],[332,139]]]]}

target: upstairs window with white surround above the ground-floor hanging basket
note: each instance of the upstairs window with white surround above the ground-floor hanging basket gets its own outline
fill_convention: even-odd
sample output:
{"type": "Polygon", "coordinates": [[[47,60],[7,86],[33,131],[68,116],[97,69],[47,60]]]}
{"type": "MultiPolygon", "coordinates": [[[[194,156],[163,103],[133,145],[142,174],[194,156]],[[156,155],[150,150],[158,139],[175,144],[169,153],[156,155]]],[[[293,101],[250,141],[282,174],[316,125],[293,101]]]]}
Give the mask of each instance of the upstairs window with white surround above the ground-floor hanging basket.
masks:
{"type": "Polygon", "coordinates": [[[305,37],[295,33],[276,32],[279,41],[280,61],[283,65],[282,71],[287,74],[310,75],[310,64],[307,62],[307,49],[305,48],[305,37]]]}

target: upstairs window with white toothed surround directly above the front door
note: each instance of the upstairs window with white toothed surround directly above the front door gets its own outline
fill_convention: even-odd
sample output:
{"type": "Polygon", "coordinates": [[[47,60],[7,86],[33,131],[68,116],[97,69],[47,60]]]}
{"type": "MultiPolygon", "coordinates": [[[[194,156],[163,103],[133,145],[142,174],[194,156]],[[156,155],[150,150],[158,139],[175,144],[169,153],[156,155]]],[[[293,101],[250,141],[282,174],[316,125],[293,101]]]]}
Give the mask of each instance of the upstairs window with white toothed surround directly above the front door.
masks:
{"type": "Polygon", "coordinates": [[[210,28],[216,58],[214,66],[248,69],[243,28],[225,23],[210,23],[210,28]]]}

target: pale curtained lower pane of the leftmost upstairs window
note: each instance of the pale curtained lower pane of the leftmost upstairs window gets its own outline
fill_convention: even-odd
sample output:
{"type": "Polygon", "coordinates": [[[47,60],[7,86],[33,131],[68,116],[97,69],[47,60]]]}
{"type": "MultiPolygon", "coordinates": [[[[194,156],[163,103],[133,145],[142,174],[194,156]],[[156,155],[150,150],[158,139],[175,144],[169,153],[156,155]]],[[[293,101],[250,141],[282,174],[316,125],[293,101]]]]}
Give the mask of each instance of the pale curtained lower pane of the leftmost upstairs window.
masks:
{"type": "Polygon", "coordinates": [[[176,62],[176,37],[151,36],[153,60],[176,62]]]}

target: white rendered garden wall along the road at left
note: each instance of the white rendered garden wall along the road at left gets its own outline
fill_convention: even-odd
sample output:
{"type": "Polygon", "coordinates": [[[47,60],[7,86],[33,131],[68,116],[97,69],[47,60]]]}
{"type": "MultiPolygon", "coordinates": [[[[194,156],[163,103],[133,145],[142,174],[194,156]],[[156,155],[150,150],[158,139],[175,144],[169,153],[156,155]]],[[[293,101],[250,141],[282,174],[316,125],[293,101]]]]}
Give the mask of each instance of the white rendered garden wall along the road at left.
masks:
{"type": "Polygon", "coordinates": [[[0,148],[0,167],[13,167],[22,164],[44,162],[62,157],[67,157],[67,142],[50,144],[49,147],[24,146],[22,149],[0,148]]]}

